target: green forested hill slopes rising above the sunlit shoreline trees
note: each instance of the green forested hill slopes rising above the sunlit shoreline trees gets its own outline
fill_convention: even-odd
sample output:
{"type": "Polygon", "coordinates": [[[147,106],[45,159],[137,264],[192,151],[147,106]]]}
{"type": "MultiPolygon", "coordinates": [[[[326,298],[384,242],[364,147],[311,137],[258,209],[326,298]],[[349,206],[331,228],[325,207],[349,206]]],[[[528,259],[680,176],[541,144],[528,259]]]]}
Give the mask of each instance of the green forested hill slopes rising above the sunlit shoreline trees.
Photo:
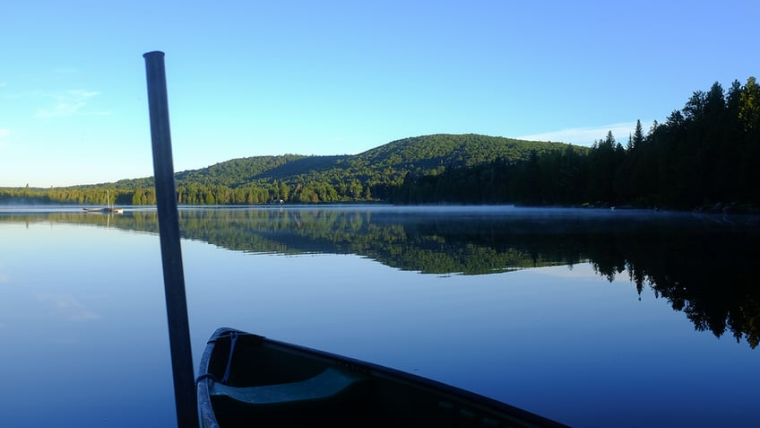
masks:
{"type": "MultiPolygon", "coordinates": [[[[177,186],[259,186],[275,180],[306,186],[320,182],[341,186],[357,179],[363,185],[400,184],[411,173],[415,176],[444,170],[472,167],[504,160],[527,160],[531,152],[548,153],[566,149],[566,144],[515,140],[488,135],[423,135],[393,141],[356,155],[254,156],[220,162],[200,170],[176,174],[177,186]]],[[[578,148],[583,151],[584,149],[578,148]]],[[[134,189],[152,185],[150,178],[125,179],[117,188],[134,189]]]]}

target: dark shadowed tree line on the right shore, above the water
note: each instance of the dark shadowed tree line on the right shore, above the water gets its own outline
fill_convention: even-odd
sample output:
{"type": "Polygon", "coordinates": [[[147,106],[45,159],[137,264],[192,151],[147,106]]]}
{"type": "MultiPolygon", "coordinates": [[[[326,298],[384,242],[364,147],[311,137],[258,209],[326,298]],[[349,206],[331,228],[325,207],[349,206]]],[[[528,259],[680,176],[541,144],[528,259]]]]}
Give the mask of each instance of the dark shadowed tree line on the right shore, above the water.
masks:
{"type": "Polygon", "coordinates": [[[393,202],[635,205],[740,209],[760,204],[760,87],[754,77],[694,92],[683,109],[621,144],[610,131],[588,153],[531,153],[466,170],[408,175],[393,202]]]}

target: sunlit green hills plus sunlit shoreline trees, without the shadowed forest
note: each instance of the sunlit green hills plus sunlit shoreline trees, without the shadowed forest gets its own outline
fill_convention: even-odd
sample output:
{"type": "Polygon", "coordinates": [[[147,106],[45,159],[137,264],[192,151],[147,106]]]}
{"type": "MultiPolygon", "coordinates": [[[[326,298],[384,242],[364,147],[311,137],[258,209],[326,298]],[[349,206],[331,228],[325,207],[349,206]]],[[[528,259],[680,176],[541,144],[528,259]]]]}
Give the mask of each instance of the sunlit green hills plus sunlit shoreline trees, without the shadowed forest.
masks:
{"type": "MultiPolygon", "coordinates": [[[[254,156],[177,172],[180,204],[263,204],[389,201],[405,180],[435,177],[479,165],[516,164],[531,155],[587,153],[585,147],[488,135],[424,135],[393,141],[355,155],[254,156]]],[[[72,188],[0,189],[0,201],[105,204],[105,189],[122,205],[152,205],[152,178],[72,188]]],[[[114,202],[112,200],[112,202],[114,202]]]]}

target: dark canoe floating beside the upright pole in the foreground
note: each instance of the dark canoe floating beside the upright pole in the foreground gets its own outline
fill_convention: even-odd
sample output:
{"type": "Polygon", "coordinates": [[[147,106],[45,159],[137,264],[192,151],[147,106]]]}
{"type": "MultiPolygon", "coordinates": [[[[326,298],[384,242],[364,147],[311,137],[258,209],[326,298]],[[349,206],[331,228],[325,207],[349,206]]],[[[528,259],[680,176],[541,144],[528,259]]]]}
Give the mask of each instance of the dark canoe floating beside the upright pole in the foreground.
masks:
{"type": "Polygon", "coordinates": [[[540,415],[434,380],[232,328],[201,358],[200,424],[556,427],[540,415]]]}

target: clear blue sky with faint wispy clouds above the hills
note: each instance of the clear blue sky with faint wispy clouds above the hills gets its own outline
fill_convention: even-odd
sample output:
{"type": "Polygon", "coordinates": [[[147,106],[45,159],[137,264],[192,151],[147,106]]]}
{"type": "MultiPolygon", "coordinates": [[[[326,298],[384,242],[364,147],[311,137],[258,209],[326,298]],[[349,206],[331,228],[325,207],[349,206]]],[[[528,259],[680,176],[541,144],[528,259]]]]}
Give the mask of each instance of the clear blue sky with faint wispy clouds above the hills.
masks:
{"type": "Polygon", "coordinates": [[[180,171],[436,133],[625,143],[636,119],[757,76],[758,14],[754,0],[4,2],[0,186],[151,176],[151,50],[180,171]]]}

